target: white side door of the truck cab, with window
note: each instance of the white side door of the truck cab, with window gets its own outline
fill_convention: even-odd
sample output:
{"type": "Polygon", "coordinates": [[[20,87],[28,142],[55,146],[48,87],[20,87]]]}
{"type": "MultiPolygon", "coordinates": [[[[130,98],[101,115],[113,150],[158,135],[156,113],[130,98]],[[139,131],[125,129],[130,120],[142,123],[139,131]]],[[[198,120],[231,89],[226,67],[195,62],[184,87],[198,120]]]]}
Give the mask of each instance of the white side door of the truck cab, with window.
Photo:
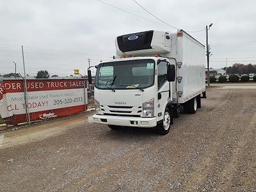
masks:
{"type": "Polygon", "coordinates": [[[164,109],[168,103],[170,84],[167,81],[167,61],[161,61],[157,65],[157,121],[163,119],[164,109]]]}

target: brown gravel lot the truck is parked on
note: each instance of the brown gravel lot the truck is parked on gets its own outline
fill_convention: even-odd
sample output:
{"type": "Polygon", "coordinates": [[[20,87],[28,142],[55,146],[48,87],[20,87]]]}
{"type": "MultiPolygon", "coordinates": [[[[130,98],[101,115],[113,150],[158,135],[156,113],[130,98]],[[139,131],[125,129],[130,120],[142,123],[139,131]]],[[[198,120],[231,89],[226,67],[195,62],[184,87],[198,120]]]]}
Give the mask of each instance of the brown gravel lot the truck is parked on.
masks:
{"type": "Polygon", "coordinates": [[[256,191],[255,98],[211,88],[166,136],[84,121],[0,148],[0,191],[256,191]]]}

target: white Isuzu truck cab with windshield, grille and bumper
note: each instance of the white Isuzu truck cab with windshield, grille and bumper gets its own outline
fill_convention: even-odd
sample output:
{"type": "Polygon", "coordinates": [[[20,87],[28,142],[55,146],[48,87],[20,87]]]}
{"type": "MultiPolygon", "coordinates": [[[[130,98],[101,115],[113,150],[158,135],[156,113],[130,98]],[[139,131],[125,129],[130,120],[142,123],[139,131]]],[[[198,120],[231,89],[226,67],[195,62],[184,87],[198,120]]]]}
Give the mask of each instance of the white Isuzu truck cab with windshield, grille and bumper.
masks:
{"type": "MultiPolygon", "coordinates": [[[[169,65],[168,59],[156,57],[100,63],[95,79],[93,120],[111,128],[113,125],[156,127],[163,120],[166,105],[172,101],[170,81],[174,81],[175,71],[173,66],[168,74],[169,65]],[[171,75],[172,79],[168,79],[171,75]]],[[[166,123],[172,123],[171,115],[166,123]]]]}

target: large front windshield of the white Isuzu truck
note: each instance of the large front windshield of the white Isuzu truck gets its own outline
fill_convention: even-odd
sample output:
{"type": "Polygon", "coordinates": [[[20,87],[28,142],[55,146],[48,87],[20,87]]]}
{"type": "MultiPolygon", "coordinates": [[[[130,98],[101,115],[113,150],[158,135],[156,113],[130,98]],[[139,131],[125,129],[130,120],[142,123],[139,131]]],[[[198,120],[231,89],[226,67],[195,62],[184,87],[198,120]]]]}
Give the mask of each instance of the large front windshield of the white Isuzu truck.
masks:
{"type": "Polygon", "coordinates": [[[154,84],[154,60],[100,63],[95,87],[100,89],[138,89],[154,84]]]}

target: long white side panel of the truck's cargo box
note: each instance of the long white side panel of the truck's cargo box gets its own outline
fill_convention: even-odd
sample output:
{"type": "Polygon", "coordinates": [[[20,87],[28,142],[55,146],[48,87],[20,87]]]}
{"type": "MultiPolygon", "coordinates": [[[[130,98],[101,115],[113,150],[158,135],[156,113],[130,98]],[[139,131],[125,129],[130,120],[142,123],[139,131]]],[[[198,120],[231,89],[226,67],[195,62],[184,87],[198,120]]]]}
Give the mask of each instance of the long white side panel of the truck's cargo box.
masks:
{"type": "Polygon", "coordinates": [[[178,102],[182,103],[205,90],[205,49],[186,33],[178,37],[178,46],[182,61],[177,73],[182,77],[181,83],[177,82],[178,92],[182,92],[178,102]]]}

